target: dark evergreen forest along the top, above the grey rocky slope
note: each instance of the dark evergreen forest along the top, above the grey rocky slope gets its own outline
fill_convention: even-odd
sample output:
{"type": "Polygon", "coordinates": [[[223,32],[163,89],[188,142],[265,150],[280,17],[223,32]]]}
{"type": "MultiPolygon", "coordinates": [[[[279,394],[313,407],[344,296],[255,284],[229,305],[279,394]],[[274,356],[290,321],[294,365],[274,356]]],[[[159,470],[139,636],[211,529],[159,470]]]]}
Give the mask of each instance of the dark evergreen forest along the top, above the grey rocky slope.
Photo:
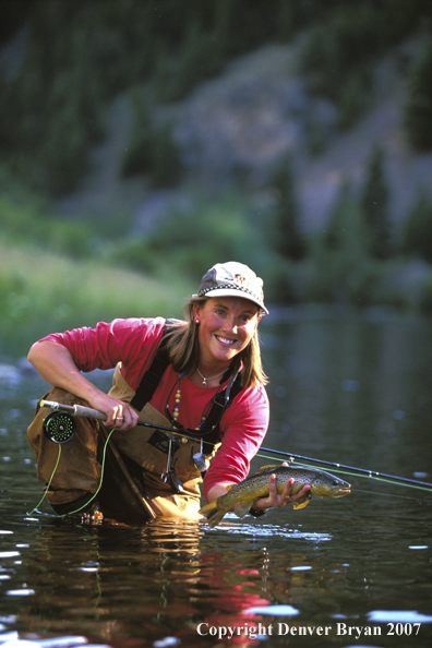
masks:
{"type": "Polygon", "coordinates": [[[178,100],[232,57],[311,26],[303,69],[349,125],[368,104],[372,57],[424,15],[432,3],[420,0],[2,0],[0,44],[25,26],[26,51],[17,72],[0,70],[0,164],[38,190],[71,191],[116,94],[148,83],[156,100],[178,100]]]}

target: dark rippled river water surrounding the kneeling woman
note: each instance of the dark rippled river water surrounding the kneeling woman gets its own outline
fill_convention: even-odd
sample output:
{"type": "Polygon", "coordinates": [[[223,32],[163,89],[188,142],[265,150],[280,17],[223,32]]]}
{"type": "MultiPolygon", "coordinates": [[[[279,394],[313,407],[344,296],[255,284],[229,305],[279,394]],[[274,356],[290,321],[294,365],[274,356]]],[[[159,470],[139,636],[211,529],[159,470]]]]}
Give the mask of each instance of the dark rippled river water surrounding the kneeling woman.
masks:
{"type": "MultiPolygon", "coordinates": [[[[264,445],[431,482],[431,322],[278,315],[263,326],[264,445]]],[[[347,497],[216,529],[28,515],[41,487],[25,429],[44,389],[0,382],[0,645],[431,645],[432,493],[345,476],[347,497]]]]}

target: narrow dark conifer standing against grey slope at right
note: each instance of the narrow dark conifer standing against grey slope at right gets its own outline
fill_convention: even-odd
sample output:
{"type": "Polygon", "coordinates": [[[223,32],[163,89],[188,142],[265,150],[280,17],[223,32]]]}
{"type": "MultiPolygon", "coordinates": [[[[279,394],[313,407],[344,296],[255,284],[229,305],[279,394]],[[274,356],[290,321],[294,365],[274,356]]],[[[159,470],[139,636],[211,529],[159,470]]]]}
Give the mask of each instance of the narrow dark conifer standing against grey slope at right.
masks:
{"type": "Polygon", "coordinates": [[[384,152],[376,147],[369,160],[360,201],[369,253],[375,259],[388,259],[392,254],[388,201],[384,152]]]}

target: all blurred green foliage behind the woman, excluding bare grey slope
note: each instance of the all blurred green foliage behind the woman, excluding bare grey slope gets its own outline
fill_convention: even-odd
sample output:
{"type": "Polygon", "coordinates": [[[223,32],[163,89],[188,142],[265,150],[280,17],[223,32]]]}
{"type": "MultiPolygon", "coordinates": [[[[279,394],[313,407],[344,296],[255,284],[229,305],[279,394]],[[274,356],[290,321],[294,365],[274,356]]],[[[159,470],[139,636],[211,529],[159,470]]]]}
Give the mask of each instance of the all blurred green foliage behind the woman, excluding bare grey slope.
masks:
{"type": "MultiPolygon", "coordinates": [[[[249,200],[241,172],[224,191],[190,189],[170,106],[236,57],[300,35],[299,73],[309,96],[332,103],[343,132],[373,104],[380,57],[421,33],[403,128],[410,151],[429,154],[431,19],[428,0],[2,0],[0,51],[20,38],[25,47],[0,58],[0,333],[25,326],[27,337],[39,334],[44,311],[50,328],[156,311],[179,315],[179,296],[195,291],[197,277],[228,259],[264,276],[267,301],[415,307],[429,314],[430,193],[419,191],[396,227],[379,142],[360,189],[343,183],[325,227],[311,231],[297,200],[296,152],[269,169],[271,200],[262,205],[249,200]],[[107,215],[108,223],[100,214],[56,211],[56,201],[85,180],[91,152],[107,136],[107,108],[122,94],[132,112],[119,177],[145,178],[149,193],[187,187],[187,204],[146,231],[136,231],[127,212],[107,215]],[[117,304],[116,268],[124,281],[117,304]],[[420,277],[416,290],[410,273],[420,277]]],[[[315,152],[320,136],[313,133],[315,152]]]]}

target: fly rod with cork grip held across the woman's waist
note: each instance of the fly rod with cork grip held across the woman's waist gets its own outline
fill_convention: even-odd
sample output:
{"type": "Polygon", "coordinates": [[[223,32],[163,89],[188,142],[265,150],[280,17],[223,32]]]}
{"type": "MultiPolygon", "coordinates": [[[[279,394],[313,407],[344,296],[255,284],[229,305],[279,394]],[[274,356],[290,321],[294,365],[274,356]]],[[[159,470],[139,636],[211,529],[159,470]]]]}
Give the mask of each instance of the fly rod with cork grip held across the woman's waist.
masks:
{"type": "MultiPolygon", "coordinates": [[[[40,400],[40,407],[48,407],[55,411],[64,411],[69,415],[74,417],[85,417],[85,418],[93,418],[99,421],[105,421],[106,416],[101,411],[97,409],[93,409],[92,407],[84,407],[83,405],[63,405],[62,403],[56,403],[55,400],[40,400]]],[[[157,428],[158,430],[164,430],[166,432],[176,432],[172,428],[166,428],[164,425],[155,425],[154,423],[145,423],[144,421],[139,421],[139,425],[143,425],[145,428],[157,428]]],[[[406,477],[397,477],[395,475],[386,475],[385,472],[377,472],[375,470],[367,470],[365,468],[355,468],[353,466],[345,466],[344,464],[336,464],[333,461],[323,461],[322,459],[312,459],[311,457],[303,457],[302,455],[293,455],[292,453],[286,453],[283,451],[275,451],[268,447],[261,447],[260,448],[266,453],[273,453],[274,455],[279,455],[283,457],[291,458],[291,459],[300,459],[302,461],[312,461],[313,464],[321,464],[322,466],[331,466],[332,468],[340,468],[341,470],[353,470],[358,475],[365,475],[368,477],[374,478],[383,478],[383,479],[392,479],[399,483],[406,483],[410,485],[420,485],[423,488],[432,489],[432,483],[427,483],[424,481],[418,481],[416,479],[408,479],[406,477]]]]}

